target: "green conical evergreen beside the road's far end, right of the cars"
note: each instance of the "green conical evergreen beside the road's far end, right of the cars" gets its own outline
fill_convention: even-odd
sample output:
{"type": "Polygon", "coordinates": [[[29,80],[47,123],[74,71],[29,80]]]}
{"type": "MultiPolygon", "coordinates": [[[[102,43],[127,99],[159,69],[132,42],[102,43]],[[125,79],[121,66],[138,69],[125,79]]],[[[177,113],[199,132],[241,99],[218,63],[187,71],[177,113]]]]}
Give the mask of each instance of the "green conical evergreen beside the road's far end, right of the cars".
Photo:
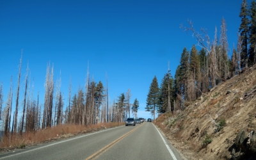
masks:
{"type": "Polygon", "coordinates": [[[150,84],[150,88],[147,95],[147,106],[145,108],[146,111],[150,111],[152,115],[154,115],[154,120],[155,120],[156,109],[158,107],[158,102],[159,102],[159,86],[157,83],[157,78],[155,76],[152,83],[150,84]]]}

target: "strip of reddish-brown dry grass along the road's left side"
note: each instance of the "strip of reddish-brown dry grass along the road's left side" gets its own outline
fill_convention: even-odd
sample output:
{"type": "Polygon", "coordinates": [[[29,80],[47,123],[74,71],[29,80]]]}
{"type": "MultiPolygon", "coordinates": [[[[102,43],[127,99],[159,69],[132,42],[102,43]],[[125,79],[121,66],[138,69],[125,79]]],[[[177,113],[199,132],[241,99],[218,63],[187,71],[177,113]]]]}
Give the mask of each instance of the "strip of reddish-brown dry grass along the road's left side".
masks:
{"type": "MultiPolygon", "coordinates": [[[[124,125],[124,123],[120,123],[119,125],[124,125]]],[[[22,136],[17,134],[13,136],[10,135],[9,137],[4,137],[1,140],[0,148],[23,148],[26,145],[35,145],[36,143],[57,140],[60,138],[68,138],[76,134],[99,131],[100,129],[106,129],[116,126],[118,126],[118,123],[100,123],[90,126],[75,124],[58,125],[36,132],[24,132],[22,136]]]]}

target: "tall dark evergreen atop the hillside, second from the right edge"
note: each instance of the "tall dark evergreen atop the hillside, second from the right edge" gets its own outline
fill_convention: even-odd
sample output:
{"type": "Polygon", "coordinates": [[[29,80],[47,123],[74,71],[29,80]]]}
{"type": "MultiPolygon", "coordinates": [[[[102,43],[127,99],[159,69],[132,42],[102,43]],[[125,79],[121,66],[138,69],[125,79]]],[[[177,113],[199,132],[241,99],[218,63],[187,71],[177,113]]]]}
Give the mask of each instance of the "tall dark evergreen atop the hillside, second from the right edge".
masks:
{"type": "Polygon", "coordinates": [[[241,4],[241,12],[239,14],[239,17],[242,19],[239,32],[241,35],[241,41],[242,41],[242,51],[241,51],[241,67],[248,67],[248,10],[247,10],[247,2],[246,0],[243,0],[243,3],[241,4]]]}

